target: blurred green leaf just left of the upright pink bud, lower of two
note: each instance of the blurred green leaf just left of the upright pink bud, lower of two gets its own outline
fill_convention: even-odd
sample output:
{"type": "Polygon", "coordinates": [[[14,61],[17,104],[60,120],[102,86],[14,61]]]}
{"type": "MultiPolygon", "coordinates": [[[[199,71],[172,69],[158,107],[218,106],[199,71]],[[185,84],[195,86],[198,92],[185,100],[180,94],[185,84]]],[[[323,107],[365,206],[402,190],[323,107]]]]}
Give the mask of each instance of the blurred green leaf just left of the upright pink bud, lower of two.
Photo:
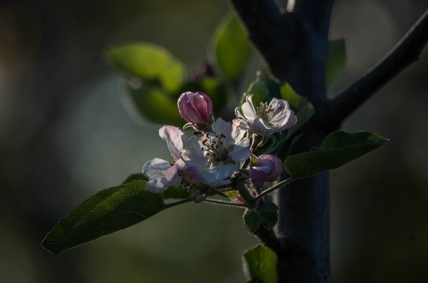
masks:
{"type": "Polygon", "coordinates": [[[157,85],[142,85],[141,88],[128,85],[128,91],[147,120],[177,127],[186,123],[178,111],[177,99],[171,97],[165,89],[157,85]]]}

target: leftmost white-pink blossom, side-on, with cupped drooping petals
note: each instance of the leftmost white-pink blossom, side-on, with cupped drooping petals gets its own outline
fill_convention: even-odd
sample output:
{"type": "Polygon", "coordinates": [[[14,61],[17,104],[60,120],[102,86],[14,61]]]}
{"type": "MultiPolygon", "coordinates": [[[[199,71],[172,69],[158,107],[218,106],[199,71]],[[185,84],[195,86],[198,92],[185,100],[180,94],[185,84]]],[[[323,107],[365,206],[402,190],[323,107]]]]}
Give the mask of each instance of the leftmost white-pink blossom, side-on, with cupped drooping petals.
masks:
{"type": "Polygon", "coordinates": [[[180,186],[181,177],[179,174],[185,171],[186,164],[180,158],[179,152],[183,148],[186,148],[189,139],[186,133],[173,126],[163,126],[160,128],[159,136],[167,142],[169,151],[175,159],[173,165],[159,158],[150,160],[144,165],[143,174],[149,178],[146,189],[155,194],[164,191],[169,186],[180,186]]]}

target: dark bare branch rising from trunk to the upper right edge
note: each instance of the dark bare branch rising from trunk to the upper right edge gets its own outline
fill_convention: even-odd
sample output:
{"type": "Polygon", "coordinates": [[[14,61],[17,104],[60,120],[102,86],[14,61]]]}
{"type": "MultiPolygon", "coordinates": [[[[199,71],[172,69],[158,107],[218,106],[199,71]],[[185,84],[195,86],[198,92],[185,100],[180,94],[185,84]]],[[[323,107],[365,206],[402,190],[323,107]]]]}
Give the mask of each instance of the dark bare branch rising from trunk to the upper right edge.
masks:
{"type": "MultiPolygon", "coordinates": [[[[376,65],[358,80],[354,85],[327,102],[320,109],[326,125],[339,128],[343,120],[354,112],[363,102],[369,99],[393,77],[407,66],[419,60],[422,49],[428,42],[428,10],[413,25],[376,65]]],[[[314,115],[315,116],[315,115],[314,115]]]]}

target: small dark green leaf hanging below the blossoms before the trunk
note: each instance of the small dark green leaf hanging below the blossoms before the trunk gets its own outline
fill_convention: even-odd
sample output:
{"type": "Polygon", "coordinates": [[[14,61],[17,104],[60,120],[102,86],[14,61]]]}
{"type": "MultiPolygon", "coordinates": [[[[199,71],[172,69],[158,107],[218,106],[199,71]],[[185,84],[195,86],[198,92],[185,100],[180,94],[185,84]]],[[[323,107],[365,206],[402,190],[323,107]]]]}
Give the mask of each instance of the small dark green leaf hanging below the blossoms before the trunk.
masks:
{"type": "Polygon", "coordinates": [[[268,201],[263,203],[256,209],[248,210],[244,214],[244,223],[247,229],[254,233],[257,228],[263,224],[267,229],[272,229],[278,221],[278,206],[275,203],[268,201]]]}

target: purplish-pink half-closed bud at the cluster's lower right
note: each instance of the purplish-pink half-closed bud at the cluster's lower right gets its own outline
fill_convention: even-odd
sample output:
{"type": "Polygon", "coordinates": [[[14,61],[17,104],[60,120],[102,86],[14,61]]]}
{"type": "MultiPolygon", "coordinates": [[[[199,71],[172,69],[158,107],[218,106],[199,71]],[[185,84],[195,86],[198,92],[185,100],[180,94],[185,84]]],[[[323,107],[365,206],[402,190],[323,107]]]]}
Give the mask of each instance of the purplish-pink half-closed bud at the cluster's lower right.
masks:
{"type": "Polygon", "coordinates": [[[265,182],[278,179],[284,165],[281,159],[272,154],[262,154],[259,162],[250,168],[250,181],[256,188],[262,189],[265,182]]]}

